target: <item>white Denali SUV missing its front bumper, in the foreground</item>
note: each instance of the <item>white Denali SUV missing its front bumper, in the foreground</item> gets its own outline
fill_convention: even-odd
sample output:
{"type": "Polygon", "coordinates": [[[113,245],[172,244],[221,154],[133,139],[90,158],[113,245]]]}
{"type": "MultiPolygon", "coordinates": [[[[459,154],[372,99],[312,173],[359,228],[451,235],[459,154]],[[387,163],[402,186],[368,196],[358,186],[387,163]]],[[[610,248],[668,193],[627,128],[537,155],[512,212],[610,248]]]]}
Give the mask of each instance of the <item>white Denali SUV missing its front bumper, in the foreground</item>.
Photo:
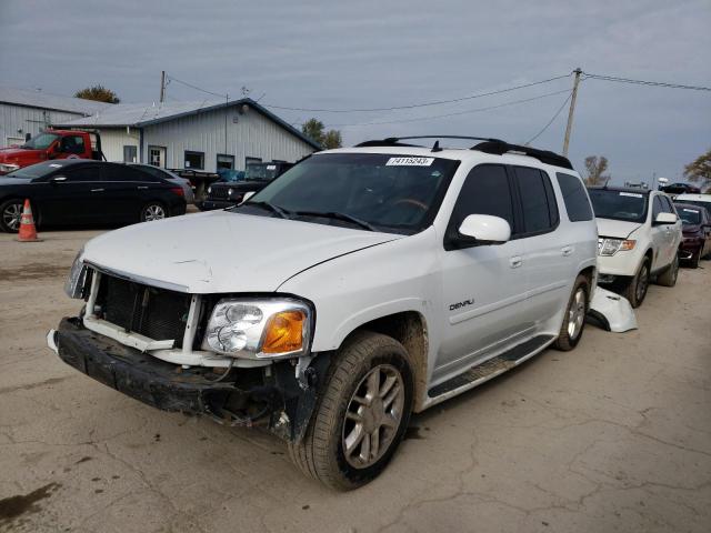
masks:
{"type": "Polygon", "coordinates": [[[240,207],[93,239],[67,283],[84,311],[50,348],[157,408],[263,425],[329,486],[367,483],[411,412],[573,349],[597,282],[567,159],[399,141],[314,154],[240,207]]]}

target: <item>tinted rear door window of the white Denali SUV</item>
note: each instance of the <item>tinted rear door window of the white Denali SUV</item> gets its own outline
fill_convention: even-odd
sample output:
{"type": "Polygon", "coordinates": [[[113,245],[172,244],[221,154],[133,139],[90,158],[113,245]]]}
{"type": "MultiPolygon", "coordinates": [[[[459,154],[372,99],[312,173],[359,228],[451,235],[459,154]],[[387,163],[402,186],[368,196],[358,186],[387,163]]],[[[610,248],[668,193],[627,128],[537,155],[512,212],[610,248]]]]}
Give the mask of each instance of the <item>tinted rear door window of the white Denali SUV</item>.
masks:
{"type": "Polygon", "coordinates": [[[527,167],[515,167],[515,178],[521,194],[523,232],[538,233],[552,229],[558,223],[558,209],[555,198],[550,197],[551,185],[545,183],[548,178],[540,170],[527,167]]]}

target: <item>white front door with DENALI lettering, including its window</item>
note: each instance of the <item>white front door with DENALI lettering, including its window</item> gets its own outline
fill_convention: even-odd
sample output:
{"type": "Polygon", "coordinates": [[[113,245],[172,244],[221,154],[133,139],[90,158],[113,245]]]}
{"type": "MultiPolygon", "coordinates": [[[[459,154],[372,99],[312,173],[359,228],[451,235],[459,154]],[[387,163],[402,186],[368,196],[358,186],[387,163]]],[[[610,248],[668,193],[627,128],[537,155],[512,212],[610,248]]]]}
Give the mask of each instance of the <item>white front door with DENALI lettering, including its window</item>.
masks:
{"type": "MultiPolygon", "coordinates": [[[[467,177],[452,212],[449,230],[469,214],[491,214],[512,228],[512,179],[505,167],[481,164],[467,177]]],[[[442,250],[443,341],[433,379],[441,381],[504,351],[525,333],[520,308],[525,305],[523,247],[503,244],[442,250]]]]}

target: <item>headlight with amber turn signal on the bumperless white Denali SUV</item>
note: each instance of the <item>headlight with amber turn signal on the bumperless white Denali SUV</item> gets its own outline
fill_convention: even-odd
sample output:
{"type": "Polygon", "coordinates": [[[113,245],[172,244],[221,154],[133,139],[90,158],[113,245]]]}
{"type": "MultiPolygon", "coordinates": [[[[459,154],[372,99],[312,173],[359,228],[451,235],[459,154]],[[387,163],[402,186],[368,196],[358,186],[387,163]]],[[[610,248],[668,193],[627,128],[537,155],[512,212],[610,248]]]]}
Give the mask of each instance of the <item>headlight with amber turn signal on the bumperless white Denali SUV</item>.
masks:
{"type": "Polygon", "coordinates": [[[294,358],[309,349],[311,308],[298,300],[220,300],[202,349],[234,358],[294,358]]]}

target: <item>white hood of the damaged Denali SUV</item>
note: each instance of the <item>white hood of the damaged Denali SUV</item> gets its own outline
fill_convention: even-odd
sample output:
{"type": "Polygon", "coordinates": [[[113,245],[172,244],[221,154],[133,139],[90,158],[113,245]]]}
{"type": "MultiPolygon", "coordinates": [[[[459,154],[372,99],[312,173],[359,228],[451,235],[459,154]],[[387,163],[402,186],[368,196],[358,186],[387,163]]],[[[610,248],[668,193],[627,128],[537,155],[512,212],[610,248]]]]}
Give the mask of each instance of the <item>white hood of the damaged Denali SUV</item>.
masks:
{"type": "Polygon", "coordinates": [[[401,238],[211,211],[104,233],[87,243],[83,260],[193,294],[272,292],[317,263],[401,238]]]}

